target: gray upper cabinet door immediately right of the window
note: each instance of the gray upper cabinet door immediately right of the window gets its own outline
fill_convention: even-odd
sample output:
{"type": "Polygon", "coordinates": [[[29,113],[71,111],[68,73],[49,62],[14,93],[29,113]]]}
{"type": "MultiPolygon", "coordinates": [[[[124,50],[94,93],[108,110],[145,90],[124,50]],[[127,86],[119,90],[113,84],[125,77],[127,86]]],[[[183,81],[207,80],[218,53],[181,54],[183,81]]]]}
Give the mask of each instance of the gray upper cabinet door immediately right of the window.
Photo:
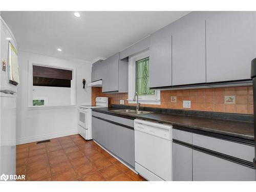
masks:
{"type": "Polygon", "coordinates": [[[149,86],[172,86],[172,36],[163,30],[151,35],[149,86]]]}

